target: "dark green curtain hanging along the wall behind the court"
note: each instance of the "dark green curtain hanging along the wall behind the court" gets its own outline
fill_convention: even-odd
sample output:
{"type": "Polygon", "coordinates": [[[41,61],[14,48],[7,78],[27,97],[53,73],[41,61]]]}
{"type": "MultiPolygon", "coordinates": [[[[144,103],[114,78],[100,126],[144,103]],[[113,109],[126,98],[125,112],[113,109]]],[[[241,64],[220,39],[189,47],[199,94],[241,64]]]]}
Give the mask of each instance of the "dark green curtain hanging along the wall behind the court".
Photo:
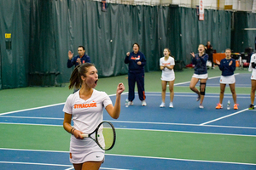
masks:
{"type": "Polygon", "coordinates": [[[255,31],[241,29],[255,27],[255,17],[205,9],[205,20],[200,21],[195,8],[174,5],[108,3],[102,12],[102,3],[88,0],[0,0],[0,89],[68,82],[73,68],[67,68],[67,52],[78,54],[79,45],[100,77],[127,74],[124,59],[133,42],[146,56],[146,71],[159,70],[164,48],[185,64],[191,62],[190,52],[207,41],[217,52],[241,52],[254,43],[255,31]],[[5,33],[12,37],[6,39],[5,33]],[[6,49],[6,41],[12,49],[6,49]]]}

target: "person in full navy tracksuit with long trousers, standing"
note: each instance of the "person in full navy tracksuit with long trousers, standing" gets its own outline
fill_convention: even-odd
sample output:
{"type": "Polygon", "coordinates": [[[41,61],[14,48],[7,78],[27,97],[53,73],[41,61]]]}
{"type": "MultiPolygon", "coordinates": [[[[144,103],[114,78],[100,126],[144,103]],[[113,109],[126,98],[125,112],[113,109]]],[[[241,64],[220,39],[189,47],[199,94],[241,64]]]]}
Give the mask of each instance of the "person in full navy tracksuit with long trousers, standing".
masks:
{"type": "Polygon", "coordinates": [[[137,91],[139,99],[142,101],[142,105],[147,105],[145,99],[145,88],[144,88],[144,65],[146,65],[146,58],[142,52],[139,51],[139,44],[134,43],[133,51],[127,52],[125,57],[125,64],[128,65],[128,85],[129,85],[129,94],[128,94],[128,105],[133,105],[134,99],[134,88],[135,82],[137,82],[137,91]]]}

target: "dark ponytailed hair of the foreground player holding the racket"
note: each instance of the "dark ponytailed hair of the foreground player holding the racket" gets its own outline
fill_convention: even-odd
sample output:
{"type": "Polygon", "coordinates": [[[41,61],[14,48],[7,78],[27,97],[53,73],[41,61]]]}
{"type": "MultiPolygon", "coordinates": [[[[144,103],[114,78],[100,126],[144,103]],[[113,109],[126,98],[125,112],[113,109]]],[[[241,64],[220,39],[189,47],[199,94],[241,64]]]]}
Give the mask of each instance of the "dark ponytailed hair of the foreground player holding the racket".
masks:
{"type": "Polygon", "coordinates": [[[73,87],[80,88],[82,84],[81,76],[86,77],[86,72],[90,66],[95,66],[91,63],[84,63],[81,65],[77,65],[76,68],[73,70],[72,75],[69,79],[69,86],[68,88],[71,89],[73,87]]]}

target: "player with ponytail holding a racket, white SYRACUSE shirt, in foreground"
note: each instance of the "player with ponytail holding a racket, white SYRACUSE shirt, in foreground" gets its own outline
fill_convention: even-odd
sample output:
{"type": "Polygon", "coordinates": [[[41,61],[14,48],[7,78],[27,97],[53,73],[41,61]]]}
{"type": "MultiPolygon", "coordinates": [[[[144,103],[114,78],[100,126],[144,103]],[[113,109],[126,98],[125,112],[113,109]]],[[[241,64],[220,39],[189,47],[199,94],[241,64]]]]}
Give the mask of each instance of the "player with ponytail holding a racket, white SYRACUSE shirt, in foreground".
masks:
{"type": "Polygon", "coordinates": [[[103,109],[117,119],[120,113],[120,98],[125,90],[123,83],[119,83],[116,91],[115,105],[105,92],[97,91],[98,73],[95,65],[84,63],[76,66],[70,77],[69,88],[81,88],[70,94],[64,105],[65,112],[63,127],[72,133],[70,139],[70,161],[75,170],[96,170],[104,161],[104,150],[90,138],[83,138],[83,133],[93,132],[103,119],[103,109]],[[73,127],[71,126],[73,120],[73,127]]]}

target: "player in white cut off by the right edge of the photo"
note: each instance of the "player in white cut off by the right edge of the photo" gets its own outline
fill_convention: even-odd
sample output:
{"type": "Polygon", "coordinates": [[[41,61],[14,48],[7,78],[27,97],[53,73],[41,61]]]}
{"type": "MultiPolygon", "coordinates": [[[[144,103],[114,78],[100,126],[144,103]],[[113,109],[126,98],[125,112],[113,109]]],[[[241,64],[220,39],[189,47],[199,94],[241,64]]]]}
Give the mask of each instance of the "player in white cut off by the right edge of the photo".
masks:
{"type": "Polygon", "coordinates": [[[256,54],[252,54],[248,70],[252,71],[251,105],[249,105],[248,109],[253,110],[254,109],[255,90],[256,90],[256,54]]]}

